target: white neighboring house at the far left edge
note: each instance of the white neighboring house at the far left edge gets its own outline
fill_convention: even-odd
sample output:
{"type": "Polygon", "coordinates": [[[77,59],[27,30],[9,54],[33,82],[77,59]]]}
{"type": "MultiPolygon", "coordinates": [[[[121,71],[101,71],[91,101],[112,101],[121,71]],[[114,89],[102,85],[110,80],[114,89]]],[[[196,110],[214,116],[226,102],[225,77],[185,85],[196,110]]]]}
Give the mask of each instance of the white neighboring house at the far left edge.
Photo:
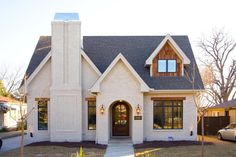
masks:
{"type": "MultiPolygon", "coordinates": [[[[15,128],[20,119],[20,103],[19,101],[0,96],[0,129],[15,128]]],[[[27,113],[27,105],[22,105],[22,113],[27,113]]]]}

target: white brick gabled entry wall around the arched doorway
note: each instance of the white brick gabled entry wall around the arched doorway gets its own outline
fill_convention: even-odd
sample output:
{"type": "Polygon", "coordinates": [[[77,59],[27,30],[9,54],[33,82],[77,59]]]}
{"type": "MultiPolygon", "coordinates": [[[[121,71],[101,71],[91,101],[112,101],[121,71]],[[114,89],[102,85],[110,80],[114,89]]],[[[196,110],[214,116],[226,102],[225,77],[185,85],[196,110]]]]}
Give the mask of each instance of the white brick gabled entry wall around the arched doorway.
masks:
{"type": "MultiPolygon", "coordinates": [[[[102,81],[101,92],[97,95],[96,140],[98,143],[107,144],[110,139],[110,106],[118,100],[124,100],[131,105],[132,116],[136,115],[135,108],[138,104],[143,108],[143,94],[140,92],[140,83],[122,61],[119,61],[102,81]],[[99,112],[102,104],[105,106],[103,115],[99,112]]],[[[130,120],[132,141],[133,143],[141,143],[143,141],[143,120],[130,120]]]]}

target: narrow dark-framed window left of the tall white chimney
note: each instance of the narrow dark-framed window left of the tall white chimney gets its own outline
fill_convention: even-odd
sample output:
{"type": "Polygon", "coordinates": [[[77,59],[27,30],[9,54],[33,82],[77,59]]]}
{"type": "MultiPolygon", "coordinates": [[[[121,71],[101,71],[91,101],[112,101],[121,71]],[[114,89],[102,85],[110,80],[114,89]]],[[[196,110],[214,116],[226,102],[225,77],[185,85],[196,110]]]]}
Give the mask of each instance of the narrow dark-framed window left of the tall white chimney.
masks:
{"type": "Polygon", "coordinates": [[[48,130],[47,101],[38,101],[38,130],[48,130]]]}

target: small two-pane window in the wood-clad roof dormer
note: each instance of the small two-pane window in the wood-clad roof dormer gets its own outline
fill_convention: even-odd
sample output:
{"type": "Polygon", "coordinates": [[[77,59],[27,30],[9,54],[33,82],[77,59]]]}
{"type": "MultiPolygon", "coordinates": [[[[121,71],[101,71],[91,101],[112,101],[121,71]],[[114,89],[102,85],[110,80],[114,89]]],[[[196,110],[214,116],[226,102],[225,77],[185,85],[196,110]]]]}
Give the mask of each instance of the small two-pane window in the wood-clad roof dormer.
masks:
{"type": "Polygon", "coordinates": [[[158,60],[158,72],[176,72],[176,60],[158,60]]]}

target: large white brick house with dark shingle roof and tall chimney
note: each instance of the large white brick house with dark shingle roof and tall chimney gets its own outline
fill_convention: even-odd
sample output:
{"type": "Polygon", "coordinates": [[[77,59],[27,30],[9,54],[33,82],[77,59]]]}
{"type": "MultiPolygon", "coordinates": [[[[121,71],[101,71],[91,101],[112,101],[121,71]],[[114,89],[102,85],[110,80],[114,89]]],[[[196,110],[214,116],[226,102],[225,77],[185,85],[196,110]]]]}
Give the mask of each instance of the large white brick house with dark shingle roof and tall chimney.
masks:
{"type": "Polygon", "coordinates": [[[81,38],[78,14],[58,13],[38,41],[26,71],[33,141],[197,140],[203,84],[198,68],[194,89],[186,78],[196,63],[187,36],[81,38]]]}

